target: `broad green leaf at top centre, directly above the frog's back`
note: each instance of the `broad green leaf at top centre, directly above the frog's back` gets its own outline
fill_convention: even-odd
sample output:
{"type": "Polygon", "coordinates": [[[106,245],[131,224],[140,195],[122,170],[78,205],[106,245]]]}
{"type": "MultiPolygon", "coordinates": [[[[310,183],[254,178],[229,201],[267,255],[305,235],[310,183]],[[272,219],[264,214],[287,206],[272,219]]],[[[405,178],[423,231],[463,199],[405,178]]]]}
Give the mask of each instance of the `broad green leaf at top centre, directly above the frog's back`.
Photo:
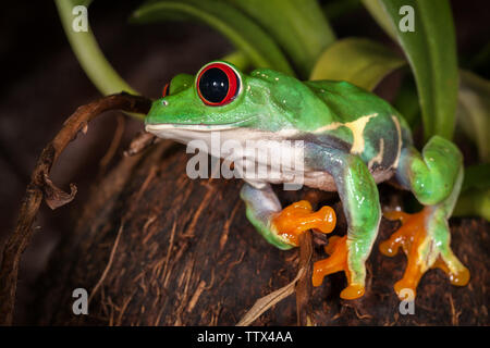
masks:
{"type": "Polygon", "coordinates": [[[244,11],[289,54],[307,78],[320,53],[335,40],[317,0],[228,0],[244,11]]]}

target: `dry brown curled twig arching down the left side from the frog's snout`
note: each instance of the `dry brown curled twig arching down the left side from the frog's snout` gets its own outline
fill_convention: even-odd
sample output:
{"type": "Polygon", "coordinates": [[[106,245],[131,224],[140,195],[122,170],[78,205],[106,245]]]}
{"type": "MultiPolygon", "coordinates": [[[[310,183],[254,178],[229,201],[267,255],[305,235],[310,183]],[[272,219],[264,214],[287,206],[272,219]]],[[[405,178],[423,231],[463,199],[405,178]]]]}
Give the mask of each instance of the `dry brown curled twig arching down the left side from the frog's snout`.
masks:
{"type": "Polygon", "coordinates": [[[32,226],[42,198],[51,209],[56,209],[72,201],[76,194],[75,185],[70,185],[71,192],[68,194],[49,179],[52,165],[79,132],[87,132],[88,123],[97,115],[109,110],[147,113],[149,107],[149,99],[127,94],[108,96],[82,105],[64,122],[61,130],[42,150],[30,176],[15,229],[3,249],[0,265],[0,325],[12,324],[21,256],[33,237],[32,226]]]}

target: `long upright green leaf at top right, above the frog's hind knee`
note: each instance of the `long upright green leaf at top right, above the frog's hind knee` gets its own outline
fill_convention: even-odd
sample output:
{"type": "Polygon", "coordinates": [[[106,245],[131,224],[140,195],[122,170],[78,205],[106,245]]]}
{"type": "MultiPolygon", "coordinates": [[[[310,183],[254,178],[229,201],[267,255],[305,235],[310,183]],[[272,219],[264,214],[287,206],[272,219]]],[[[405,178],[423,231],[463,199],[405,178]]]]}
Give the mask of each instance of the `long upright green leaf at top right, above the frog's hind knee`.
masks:
{"type": "Polygon", "coordinates": [[[426,140],[436,134],[451,139],[458,76],[449,1],[365,0],[364,3],[387,33],[396,37],[407,57],[417,83],[426,140]],[[400,10],[407,9],[406,5],[413,9],[414,32],[400,29],[408,15],[400,14],[400,10]]]}

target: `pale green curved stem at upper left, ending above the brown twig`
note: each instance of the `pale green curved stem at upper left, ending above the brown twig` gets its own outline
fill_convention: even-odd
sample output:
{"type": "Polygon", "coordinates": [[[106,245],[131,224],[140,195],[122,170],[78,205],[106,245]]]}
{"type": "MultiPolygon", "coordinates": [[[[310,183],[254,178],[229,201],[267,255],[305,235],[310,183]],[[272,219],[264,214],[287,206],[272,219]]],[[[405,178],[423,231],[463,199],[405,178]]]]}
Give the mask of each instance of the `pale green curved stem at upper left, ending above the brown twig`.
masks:
{"type": "Polygon", "coordinates": [[[76,16],[72,13],[73,8],[76,5],[88,7],[90,2],[87,0],[56,0],[63,29],[66,33],[66,37],[79,64],[93,84],[103,95],[111,95],[123,90],[137,95],[112,69],[100,50],[91,29],[88,28],[88,32],[73,30],[72,23],[76,16]]]}

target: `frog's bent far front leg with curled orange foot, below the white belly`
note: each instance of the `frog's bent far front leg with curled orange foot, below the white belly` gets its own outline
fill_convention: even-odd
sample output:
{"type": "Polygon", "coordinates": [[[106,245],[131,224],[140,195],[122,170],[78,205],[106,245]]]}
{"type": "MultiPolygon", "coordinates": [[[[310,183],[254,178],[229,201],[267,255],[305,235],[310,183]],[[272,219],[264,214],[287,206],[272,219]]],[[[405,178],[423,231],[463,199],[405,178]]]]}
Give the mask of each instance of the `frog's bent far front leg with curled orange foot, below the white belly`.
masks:
{"type": "Polygon", "coordinates": [[[307,229],[330,233],[335,227],[332,208],[322,207],[314,212],[311,204],[302,200],[281,209],[278,197],[266,183],[260,188],[245,183],[240,196],[250,223],[267,241],[282,250],[297,247],[299,235],[307,229]]]}

